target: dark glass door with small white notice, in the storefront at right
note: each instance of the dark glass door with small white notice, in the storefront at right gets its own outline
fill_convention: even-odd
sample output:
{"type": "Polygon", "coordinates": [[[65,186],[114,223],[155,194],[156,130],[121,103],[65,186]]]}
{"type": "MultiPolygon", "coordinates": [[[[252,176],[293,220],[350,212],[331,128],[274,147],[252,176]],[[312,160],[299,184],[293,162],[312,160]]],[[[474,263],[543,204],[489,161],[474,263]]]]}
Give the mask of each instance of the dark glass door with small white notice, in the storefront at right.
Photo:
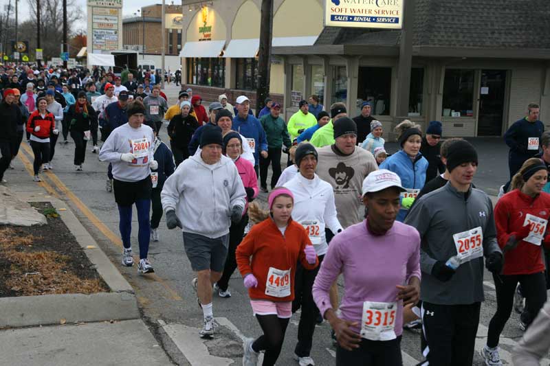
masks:
{"type": "Polygon", "coordinates": [[[477,122],[478,136],[502,135],[505,93],[505,70],[481,70],[477,122]]]}

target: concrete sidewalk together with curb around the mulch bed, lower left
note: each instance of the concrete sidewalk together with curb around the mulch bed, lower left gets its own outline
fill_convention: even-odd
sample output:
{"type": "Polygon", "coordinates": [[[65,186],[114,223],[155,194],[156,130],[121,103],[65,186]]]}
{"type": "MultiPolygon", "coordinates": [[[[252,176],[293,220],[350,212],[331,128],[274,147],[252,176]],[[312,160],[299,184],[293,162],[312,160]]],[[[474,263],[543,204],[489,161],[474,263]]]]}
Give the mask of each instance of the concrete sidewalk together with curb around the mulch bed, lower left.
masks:
{"type": "Polygon", "coordinates": [[[140,318],[133,288],[71,209],[42,183],[32,182],[24,163],[25,157],[14,160],[16,169],[5,174],[8,184],[0,186],[0,221],[36,222],[36,213],[33,218],[32,209],[21,209],[21,201],[52,203],[110,292],[0,298],[0,363],[173,365],[140,318]]]}

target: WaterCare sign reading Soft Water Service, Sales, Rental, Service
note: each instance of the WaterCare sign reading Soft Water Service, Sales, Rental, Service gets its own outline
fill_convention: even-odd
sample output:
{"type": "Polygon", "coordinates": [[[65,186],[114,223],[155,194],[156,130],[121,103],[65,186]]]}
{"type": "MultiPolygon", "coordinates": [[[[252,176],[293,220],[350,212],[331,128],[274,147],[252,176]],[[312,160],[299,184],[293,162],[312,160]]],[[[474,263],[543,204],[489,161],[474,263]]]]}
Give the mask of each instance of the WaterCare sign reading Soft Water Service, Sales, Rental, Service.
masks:
{"type": "Polygon", "coordinates": [[[325,0],[325,25],[401,29],[405,0],[325,0]]]}

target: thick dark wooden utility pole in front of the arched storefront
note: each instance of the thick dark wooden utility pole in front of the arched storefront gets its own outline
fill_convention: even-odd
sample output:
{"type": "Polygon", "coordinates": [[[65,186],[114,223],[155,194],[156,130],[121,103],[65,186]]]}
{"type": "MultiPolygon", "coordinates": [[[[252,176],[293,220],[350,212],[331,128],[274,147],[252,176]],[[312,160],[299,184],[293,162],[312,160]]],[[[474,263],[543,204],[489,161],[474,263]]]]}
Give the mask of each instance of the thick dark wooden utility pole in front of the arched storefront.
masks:
{"type": "Polygon", "coordinates": [[[258,58],[258,84],[256,87],[256,117],[264,107],[270,93],[270,57],[273,32],[273,0],[262,0],[260,23],[260,47],[258,58]]]}

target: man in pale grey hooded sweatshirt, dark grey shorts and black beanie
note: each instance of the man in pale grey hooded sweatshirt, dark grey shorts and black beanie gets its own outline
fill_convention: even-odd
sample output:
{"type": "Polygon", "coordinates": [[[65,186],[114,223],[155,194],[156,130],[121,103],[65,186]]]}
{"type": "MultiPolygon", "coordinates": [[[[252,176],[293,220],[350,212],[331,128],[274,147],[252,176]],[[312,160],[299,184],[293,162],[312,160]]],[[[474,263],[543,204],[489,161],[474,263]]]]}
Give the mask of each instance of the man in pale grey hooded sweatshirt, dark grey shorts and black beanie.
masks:
{"type": "Polygon", "coordinates": [[[204,130],[201,153],[181,163],[160,194],[166,226],[182,229],[187,258],[197,272],[191,284],[203,311],[199,334],[205,338],[214,335],[212,284],[221,278],[228,254],[230,222],[239,222],[245,208],[239,171],[221,155],[222,146],[219,128],[204,130]]]}

